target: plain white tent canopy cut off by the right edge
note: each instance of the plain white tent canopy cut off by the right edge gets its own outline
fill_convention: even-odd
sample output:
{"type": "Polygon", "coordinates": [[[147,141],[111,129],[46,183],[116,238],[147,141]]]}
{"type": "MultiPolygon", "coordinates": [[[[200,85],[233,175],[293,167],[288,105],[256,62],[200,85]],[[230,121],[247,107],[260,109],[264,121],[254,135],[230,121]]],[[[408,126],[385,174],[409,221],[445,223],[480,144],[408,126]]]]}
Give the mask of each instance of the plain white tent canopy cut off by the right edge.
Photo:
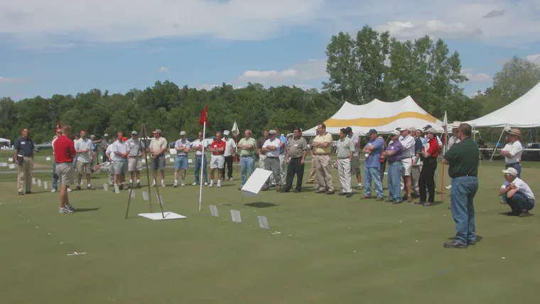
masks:
{"type": "Polygon", "coordinates": [[[514,102],[471,121],[465,121],[476,128],[536,128],[540,126],[538,112],[540,111],[540,83],[534,86],[514,102]]]}

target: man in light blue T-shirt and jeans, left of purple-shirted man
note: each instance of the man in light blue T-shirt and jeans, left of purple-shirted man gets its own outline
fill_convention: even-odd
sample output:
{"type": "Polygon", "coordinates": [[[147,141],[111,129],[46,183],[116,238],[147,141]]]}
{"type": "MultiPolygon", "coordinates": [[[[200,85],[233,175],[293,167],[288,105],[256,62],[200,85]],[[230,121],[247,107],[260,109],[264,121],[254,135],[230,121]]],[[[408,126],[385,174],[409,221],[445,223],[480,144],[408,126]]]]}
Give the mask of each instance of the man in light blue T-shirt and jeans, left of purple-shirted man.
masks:
{"type": "Polygon", "coordinates": [[[381,166],[381,153],[382,148],[384,147],[384,142],[382,139],[379,139],[377,136],[377,130],[369,130],[369,142],[366,144],[362,150],[365,153],[365,162],[364,162],[364,188],[365,194],[364,199],[371,198],[371,184],[372,180],[375,184],[375,192],[377,192],[377,201],[382,201],[384,193],[382,192],[382,182],[381,176],[379,175],[379,170],[381,166]]]}

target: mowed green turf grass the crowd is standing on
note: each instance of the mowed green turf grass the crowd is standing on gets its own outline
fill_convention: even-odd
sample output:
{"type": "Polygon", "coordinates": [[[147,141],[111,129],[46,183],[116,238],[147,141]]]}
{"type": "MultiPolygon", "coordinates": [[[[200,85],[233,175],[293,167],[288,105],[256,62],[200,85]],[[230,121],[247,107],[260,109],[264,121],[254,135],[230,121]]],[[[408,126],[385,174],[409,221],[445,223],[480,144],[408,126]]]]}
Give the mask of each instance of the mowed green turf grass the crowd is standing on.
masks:
{"type": "MultiPolygon", "coordinates": [[[[315,195],[312,185],[246,197],[235,180],[204,188],[198,212],[199,188],[168,186],[159,188],[165,209],[188,218],[151,221],[136,216],[148,212],[141,190],[128,219],[128,192],[111,189],[70,192],[80,211],[60,215],[58,193],[36,186],[36,194],[18,196],[15,175],[0,175],[1,303],[538,303],[540,215],[500,215],[509,210],[496,196],[502,166],[482,162],[475,200],[482,239],[466,250],[443,248],[455,233],[447,193],[434,207],[360,200],[363,191],[315,195]],[[242,224],[231,221],[231,209],[242,224]],[[257,215],[268,217],[270,231],[257,215]],[[66,256],[73,251],[87,254],[66,256]]],[[[533,191],[539,175],[539,165],[524,163],[533,191]]],[[[102,185],[106,175],[93,180],[102,185]]]]}

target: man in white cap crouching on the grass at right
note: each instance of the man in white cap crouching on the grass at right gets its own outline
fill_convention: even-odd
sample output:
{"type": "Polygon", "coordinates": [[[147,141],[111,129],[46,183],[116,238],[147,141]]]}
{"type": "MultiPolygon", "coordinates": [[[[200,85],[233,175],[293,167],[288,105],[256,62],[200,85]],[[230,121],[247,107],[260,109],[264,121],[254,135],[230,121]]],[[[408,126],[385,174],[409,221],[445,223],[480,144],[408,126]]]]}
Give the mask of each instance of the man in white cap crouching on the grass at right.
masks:
{"type": "Polygon", "coordinates": [[[512,208],[512,211],[505,215],[528,217],[529,210],[534,208],[534,193],[529,185],[519,178],[515,168],[507,168],[502,173],[506,181],[502,184],[499,195],[507,197],[507,204],[512,208]]]}

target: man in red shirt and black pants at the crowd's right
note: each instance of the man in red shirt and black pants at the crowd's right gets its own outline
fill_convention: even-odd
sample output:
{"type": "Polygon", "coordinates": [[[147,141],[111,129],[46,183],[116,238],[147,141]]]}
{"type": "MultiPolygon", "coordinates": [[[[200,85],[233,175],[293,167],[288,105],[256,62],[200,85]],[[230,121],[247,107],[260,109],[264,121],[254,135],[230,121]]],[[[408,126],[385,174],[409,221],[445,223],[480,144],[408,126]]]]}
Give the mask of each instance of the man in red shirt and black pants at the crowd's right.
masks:
{"type": "Polygon", "coordinates": [[[435,202],[435,181],[433,180],[435,172],[437,170],[437,156],[438,156],[438,141],[437,131],[434,128],[429,128],[426,132],[428,142],[426,148],[422,153],[423,167],[420,173],[419,188],[420,188],[420,201],[415,204],[423,204],[424,206],[432,206],[435,202]],[[426,202],[426,188],[429,194],[428,201],[426,202]]]}

